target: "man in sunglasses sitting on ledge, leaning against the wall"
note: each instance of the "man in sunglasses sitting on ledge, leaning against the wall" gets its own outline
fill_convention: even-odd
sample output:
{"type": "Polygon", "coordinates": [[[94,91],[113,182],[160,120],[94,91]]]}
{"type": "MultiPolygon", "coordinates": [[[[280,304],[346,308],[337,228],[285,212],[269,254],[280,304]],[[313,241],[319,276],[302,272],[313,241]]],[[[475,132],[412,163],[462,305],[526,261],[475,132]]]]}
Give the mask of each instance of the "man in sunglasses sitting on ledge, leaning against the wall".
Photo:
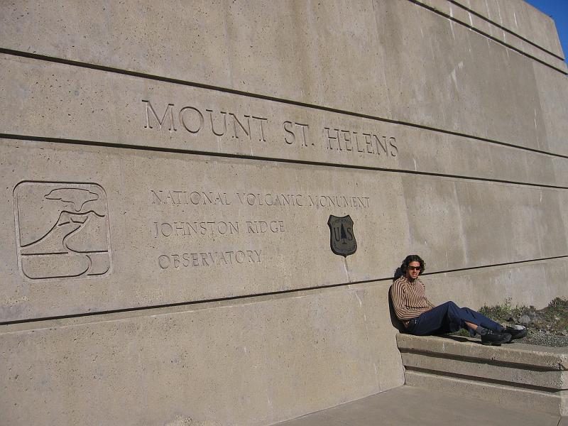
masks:
{"type": "Polygon", "coordinates": [[[398,319],[410,334],[425,336],[469,330],[479,334],[481,343],[500,345],[512,339],[527,335],[527,330],[503,327],[469,307],[459,307],[454,302],[434,306],[426,298],[425,286],[418,278],[424,272],[424,261],[420,256],[406,256],[400,266],[403,273],[391,287],[391,300],[398,319]]]}

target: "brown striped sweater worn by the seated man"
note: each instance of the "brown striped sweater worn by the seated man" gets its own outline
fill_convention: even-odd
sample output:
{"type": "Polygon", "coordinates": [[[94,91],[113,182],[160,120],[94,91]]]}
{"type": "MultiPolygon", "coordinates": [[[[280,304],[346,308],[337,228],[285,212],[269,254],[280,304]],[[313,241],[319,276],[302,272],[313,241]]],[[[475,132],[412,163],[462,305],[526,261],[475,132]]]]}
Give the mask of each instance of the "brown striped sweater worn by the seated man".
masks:
{"type": "Polygon", "coordinates": [[[420,278],[413,283],[405,276],[398,278],[391,286],[391,300],[396,316],[405,327],[410,320],[434,307],[426,298],[426,288],[420,278]]]}

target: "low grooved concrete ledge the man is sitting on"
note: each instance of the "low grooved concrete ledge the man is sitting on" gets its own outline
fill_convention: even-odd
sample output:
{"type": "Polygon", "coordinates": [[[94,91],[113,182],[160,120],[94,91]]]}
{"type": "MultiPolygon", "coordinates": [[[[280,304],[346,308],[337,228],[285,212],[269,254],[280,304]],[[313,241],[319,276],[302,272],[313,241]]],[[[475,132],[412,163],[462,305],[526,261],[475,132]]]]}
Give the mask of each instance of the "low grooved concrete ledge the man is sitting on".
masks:
{"type": "Polygon", "coordinates": [[[465,337],[397,335],[405,383],[568,414],[568,348],[483,346],[465,337]]]}

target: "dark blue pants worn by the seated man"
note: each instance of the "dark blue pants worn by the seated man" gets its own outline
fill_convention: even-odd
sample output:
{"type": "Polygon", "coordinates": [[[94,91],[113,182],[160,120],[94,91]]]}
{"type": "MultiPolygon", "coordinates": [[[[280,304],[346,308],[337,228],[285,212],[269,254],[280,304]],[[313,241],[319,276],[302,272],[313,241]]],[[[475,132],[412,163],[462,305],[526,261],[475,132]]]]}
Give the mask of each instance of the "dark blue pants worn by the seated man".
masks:
{"type": "Polygon", "coordinates": [[[470,334],[475,334],[465,322],[481,325],[494,332],[502,332],[503,326],[490,320],[485,315],[481,315],[469,307],[459,307],[454,302],[445,302],[442,305],[424,312],[419,317],[413,318],[408,324],[407,331],[417,336],[427,336],[429,334],[444,334],[457,332],[459,329],[469,330],[470,334]]]}

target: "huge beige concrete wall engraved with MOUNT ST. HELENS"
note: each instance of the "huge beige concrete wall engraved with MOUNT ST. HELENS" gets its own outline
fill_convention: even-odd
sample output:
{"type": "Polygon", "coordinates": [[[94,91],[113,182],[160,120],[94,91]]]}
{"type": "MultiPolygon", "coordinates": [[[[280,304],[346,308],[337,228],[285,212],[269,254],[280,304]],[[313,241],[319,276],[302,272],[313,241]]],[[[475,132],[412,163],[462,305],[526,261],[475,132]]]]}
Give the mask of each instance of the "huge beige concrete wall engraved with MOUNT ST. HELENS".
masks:
{"type": "Polygon", "coordinates": [[[0,423],[267,425],[399,386],[411,252],[434,302],[567,297],[567,66],[514,3],[0,4],[0,423]]]}

